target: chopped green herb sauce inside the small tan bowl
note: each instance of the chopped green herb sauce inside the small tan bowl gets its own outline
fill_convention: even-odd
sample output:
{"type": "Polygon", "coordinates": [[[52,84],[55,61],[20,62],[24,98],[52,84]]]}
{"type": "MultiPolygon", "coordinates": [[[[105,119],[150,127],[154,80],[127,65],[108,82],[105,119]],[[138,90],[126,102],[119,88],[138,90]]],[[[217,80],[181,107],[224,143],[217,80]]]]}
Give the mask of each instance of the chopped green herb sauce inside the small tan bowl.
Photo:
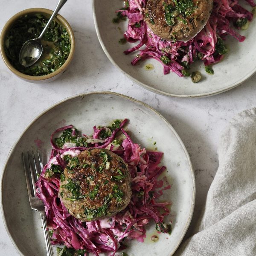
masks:
{"type": "Polygon", "coordinates": [[[44,34],[41,43],[43,54],[31,67],[24,67],[19,62],[22,45],[29,39],[37,38],[47,24],[48,18],[42,14],[25,15],[16,21],[5,39],[5,52],[11,62],[21,73],[29,76],[44,76],[58,70],[70,53],[70,36],[67,30],[53,20],[44,34]]]}

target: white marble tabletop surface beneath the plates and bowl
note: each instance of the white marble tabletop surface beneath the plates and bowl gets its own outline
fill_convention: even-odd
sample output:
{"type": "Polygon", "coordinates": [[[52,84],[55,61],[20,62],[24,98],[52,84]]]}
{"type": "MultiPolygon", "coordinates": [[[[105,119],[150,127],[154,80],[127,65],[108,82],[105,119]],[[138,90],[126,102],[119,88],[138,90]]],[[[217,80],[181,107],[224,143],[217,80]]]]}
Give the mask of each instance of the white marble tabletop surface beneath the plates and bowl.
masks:
{"type": "MultiPolygon", "coordinates": [[[[32,7],[53,9],[55,2],[0,0],[0,30],[15,13],[32,7]]],[[[255,106],[256,76],[229,92],[204,99],[156,95],[134,84],[108,61],[96,37],[90,0],[68,1],[61,15],[75,32],[76,54],[69,70],[60,79],[49,84],[29,84],[16,78],[0,59],[0,173],[12,145],[41,111],[74,94],[111,90],[151,105],[169,120],[180,135],[195,169],[197,194],[194,221],[218,168],[217,149],[221,131],[234,115],[255,106]]],[[[0,255],[19,255],[6,233],[2,218],[0,255]]]]}

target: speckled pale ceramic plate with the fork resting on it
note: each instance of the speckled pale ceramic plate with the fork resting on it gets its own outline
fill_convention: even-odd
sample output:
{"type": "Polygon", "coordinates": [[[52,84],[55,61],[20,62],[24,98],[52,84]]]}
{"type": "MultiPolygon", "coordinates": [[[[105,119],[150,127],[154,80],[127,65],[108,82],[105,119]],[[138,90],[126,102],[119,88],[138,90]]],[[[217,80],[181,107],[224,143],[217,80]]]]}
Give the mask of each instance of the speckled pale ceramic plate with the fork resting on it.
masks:
{"type": "Polygon", "coordinates": [[[35,151],[41,140],[40,150],[49,156],[49,138],[55,129],[73,124],[90,134],[94,125],[108,124],[116,118],[129,119],[126,129],[135,142],[145,148],[157,146],[164,152],[162,163],[167,166],[165,175],[172,185],[161,198],[172,202],[166,220],[173,222],[172,234],[160,234],[160,239],[153,242],[150,237],[156,231],[153,223],[148,224],[145,242],[131,241],[126,252],[129,256],[170,256],[175,252],[189,226],[195,202],[195,179],[186,148],[166,119],[148,105],[117,93],[93,92],[64,99],[41,113],[9,153],[2,176],[1,208],[6,230],[21,255],[46,255],[39,214],[29,206],[21,152],[35,151]]]}

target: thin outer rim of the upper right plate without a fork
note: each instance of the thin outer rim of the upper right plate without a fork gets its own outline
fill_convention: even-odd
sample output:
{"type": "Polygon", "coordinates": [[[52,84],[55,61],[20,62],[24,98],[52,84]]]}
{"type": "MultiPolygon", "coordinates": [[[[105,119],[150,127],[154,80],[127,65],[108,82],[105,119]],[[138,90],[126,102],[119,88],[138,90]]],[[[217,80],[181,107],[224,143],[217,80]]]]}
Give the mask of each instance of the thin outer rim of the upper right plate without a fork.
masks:
{"type": "Polygon", "coordinates": [[[105,47],[105,44],[103,43],[102,40],[102,36],[100,35],[99,32],[99,26],[98,26],[98,22],[96,19],[96,4],[95,4],[96,0],[92,0],[92,9],[93,9],[93,21],[94,21],[94,26],[96,29],[96,34],[97,37],[99,39],[99,43],[103,49],[103,51],[105,52],[105,55],[107,55],[109,61],[117,68],[121,71],[121,73],[123,73],[125,76],[127,76],[129,79],[131,79],[131,81],[134,81],[135,83],[137,83],[138,85],[140,85],[141,87],[144,87],[147,90],[150,90],[151,92],[160,94],[160,95],[164,95],[164,96],[171,96],[171,97],[175,97],[175,98],[204,98],[204,97],[209,97],[209,96],[214,96],[220,93],[224,93],[228,90],[232,90],[233,88],[239,86],[240,84],[244,83],[245,81],[247,81],[251,76],[253,76],[256,73],[256,67],[254,70],[252,70],[250,73],[248,73],[246,76],[244,76],[242,79],[239,79],[236,83],[233,83],[231,86],[228,87],[224,87],[218,90],[213,90],[211,92],[208,93],[198,93],[198,94],[173,94],[173,93],[166,93],[164,91],[158,90],[156,88],[153,88],[147,84],[144,84],[143,82],[135,79],[133,76],[129,75],[127,72],[125,72],[125,70],[123,70],[121,67],[119,67],[118,64],[116,64],[116,62],[114,61],[114,59],[111,57],[111,55],[109,54],[108,50],[105,47]]]}

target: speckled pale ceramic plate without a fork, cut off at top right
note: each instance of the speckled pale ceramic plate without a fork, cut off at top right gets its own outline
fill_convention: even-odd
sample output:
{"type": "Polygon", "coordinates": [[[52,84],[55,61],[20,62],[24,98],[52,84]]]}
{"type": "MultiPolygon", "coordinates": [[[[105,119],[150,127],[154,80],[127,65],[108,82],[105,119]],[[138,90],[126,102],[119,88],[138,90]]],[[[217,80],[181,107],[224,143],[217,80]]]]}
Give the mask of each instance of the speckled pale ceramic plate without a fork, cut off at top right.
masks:
{"type": "MultiPolygon", "coordinates": [[[[96,32],[102,48],[109,60],[135,83],[167,96],[202,97],[212,96],[230,90],[248,79],[256,72],[256,19],[250,23],[249,29],[239,32],[246,36],[243,43],[228,37],[229,53],[224,60],[213,66],[215,74],[208,75],[204,71],[203,63],[196,64],[194,70],[200,70],[203,79],[193,84],[190,78],[180,78],[175,73],[163,75],[163,66],[154,59],[142,61],[132,66],[131,61],[137,53],[125,55],[123,51],[132,44],[119,44],[123,32],[127,29],[128,21],[118,24],[112,23],[115,11],[122,7],[122,1],[93,0],[93,16],[96,32]],[[146,70],[146,64],[153,64],[154,70],[146,70]]],[[[250,7],[247,5],[247,9],[250,7]]],[[[135,43],[134,45],[137,45],[135,43]]]]}

